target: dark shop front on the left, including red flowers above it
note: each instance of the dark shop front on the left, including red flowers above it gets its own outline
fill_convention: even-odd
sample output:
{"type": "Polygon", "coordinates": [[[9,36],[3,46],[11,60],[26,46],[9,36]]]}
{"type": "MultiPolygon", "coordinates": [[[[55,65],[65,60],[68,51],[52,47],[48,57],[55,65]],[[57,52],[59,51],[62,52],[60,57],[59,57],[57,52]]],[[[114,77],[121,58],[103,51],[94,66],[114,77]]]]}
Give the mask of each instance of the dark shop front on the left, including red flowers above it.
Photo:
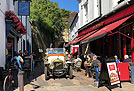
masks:
{"type": "MultiPolygon", "coordinates": [[[[5,68],[7,64],[10,62],[13,57],[14,51],[18,50],[18,41],[24,34],[27,33],[25,27],[20,22],[20,19],[15,15],[13,11],[6,11],[5,13],[5,24],[6,24],[6,62],[5,68]]],[[[22,45],[21,45],[22,46],[22,45]]]]}

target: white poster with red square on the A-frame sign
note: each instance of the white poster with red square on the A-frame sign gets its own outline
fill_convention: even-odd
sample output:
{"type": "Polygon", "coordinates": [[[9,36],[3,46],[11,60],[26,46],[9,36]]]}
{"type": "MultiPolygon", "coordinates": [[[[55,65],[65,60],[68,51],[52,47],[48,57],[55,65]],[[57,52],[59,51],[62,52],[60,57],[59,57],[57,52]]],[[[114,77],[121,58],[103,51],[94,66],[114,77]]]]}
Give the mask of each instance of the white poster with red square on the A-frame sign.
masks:
{"type": "Polygon", "coordinates": [[[107,68],[111,85],[120,83],[116,63],[115,62],[107,63],[107,68]]]}

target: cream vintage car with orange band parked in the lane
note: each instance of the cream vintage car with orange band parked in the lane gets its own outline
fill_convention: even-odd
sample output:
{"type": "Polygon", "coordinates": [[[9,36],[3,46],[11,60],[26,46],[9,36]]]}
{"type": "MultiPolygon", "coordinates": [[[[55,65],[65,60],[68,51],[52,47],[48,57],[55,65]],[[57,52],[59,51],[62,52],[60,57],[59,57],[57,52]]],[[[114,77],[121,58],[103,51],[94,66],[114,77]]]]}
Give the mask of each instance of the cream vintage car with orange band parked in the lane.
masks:
{"type": "Polygon", "coordinates": [[[47,61],[44,63],[45,80],[50,75],[55,77],[68,75],[70,79],[73,78],[72,63],[65,60],[64,48],[47,48],[47,61]]]}

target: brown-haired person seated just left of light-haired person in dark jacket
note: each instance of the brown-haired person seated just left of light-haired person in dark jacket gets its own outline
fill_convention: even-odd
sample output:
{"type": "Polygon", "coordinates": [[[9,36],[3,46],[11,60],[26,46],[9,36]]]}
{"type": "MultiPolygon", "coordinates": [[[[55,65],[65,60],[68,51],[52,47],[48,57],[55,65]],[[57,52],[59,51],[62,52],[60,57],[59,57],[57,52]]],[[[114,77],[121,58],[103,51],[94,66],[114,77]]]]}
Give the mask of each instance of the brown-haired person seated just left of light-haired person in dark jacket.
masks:
{"type": "Polygon", "coordinates": [[[91,78],[92,77],[92,73],[91,73],[91,63],[92,63],[92,60],[91,60],[91,56],[90,54],[87,54],[87,59],[85,61],[85,68],[86,68],[86,74],[87,74],[87,77],[91,78]]]}

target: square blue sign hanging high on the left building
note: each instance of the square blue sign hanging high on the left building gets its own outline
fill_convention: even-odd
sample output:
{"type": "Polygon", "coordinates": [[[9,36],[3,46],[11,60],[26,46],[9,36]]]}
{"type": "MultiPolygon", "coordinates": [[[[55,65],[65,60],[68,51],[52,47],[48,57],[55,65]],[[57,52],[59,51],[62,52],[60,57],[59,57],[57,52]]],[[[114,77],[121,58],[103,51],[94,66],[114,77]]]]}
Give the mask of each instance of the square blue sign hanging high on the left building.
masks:
{"type": "Polygon", "coordinates": [[[30,15],[30,2],[18,3],[18,15],[24,15],[24,16],[30,15]]]}

